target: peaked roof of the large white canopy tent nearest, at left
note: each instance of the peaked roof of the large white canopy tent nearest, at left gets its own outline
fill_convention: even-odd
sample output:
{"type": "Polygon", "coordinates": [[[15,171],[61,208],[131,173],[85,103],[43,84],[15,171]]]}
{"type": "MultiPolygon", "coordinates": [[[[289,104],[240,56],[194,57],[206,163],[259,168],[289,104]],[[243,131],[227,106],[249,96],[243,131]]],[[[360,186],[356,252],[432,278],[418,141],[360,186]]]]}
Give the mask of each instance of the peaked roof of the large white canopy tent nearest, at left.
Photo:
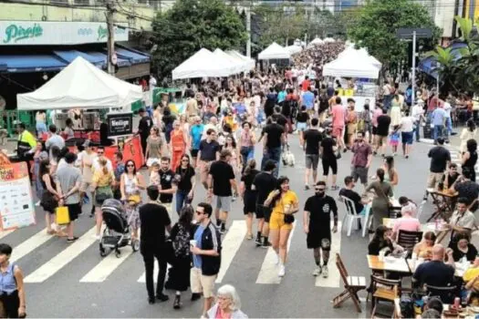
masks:
{"type": "Polygon", "coordinates": [[[18,109],[117,108],[143,98],[140,86],[93,66],[77,57],[34,92],[17,94],[18,109]]]}

